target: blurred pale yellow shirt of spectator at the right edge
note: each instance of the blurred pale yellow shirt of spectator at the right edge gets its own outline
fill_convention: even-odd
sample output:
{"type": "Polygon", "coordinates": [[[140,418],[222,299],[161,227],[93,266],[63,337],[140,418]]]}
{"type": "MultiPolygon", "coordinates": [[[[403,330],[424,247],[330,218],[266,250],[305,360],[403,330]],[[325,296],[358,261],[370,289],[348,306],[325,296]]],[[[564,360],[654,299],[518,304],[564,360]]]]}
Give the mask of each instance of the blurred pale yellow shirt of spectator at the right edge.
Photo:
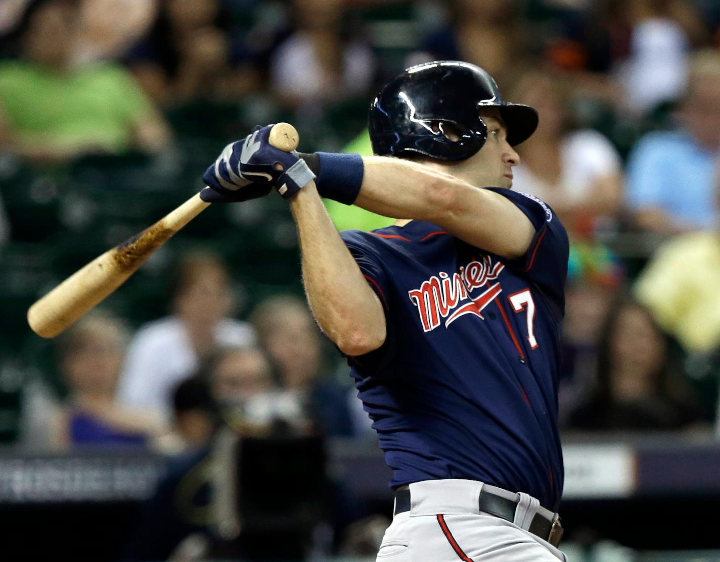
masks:
{"type": "Polygon", "coordinates": [[[720,345],[720,234],[677,236],[657,250],[637,280],[636,298],[685,349],[720,345]]]}

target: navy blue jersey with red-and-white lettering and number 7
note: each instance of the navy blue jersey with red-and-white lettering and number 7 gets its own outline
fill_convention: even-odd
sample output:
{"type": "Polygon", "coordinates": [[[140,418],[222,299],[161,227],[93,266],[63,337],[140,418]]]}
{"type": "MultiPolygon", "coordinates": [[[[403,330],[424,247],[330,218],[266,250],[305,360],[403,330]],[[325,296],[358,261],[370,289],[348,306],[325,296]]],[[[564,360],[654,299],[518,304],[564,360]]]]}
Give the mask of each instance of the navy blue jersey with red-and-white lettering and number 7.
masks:
{"type": "Polygon", "coordinates": [[[387,319],[384,344],[350,358],[351,374],[392,487],[473,479],[557,510],[567,234],[532,195],[487,189],[535,226],[521,259],[500,258],[424,221],[341,233],[387,319]]]}

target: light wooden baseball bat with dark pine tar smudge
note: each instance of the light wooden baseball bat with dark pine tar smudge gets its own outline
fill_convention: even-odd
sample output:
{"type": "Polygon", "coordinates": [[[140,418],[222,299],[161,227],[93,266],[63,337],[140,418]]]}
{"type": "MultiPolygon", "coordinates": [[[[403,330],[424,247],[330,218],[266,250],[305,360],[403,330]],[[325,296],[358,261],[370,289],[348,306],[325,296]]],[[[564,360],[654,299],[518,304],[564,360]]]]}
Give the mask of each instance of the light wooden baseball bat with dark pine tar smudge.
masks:
{"type": "MultiPolygon", "coordinates": [[[[297,148],[299,137],[294,126],[278,123],[271,129],[269,140],[274,147],[289,152],[297,148]]],[[[32,331],[43,338],[58,336],[112,294],[150,254],[208,206],[210,203],[202,201],[199,193],[193,195],[153,226],[73,273],[27,310],[32,331]]]]}

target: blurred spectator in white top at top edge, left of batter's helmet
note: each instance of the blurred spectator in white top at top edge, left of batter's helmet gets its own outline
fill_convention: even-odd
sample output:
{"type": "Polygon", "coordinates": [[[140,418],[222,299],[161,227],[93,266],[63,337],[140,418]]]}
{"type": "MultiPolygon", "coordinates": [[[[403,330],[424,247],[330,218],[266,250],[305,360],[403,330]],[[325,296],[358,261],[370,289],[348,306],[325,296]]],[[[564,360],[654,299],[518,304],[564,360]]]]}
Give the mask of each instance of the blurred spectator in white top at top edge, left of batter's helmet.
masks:
{"type": "Polygon", "coordinates": [[[295,31],[271,55],[271,89],[290,106],[365,96],[375,60],[359,37],[341,31],[342,0],[293,0],[295,31]]]}

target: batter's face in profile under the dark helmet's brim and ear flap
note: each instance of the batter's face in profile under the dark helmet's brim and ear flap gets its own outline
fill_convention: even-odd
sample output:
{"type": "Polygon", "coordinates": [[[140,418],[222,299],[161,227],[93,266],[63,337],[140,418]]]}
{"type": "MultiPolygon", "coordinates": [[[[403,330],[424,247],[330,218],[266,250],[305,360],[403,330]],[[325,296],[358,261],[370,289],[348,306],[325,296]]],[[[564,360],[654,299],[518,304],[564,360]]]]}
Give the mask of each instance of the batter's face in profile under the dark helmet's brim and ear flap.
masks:
{"type": "Polygon", "coordinates": [[[508,144],[507,129],[498,109],[481,112],[487,125],[487,140],[476,155],[459,162],[462,178],[478,187],[510,188],[513,185],[513,166],[520,163],[515,149],[508,144]]]}

